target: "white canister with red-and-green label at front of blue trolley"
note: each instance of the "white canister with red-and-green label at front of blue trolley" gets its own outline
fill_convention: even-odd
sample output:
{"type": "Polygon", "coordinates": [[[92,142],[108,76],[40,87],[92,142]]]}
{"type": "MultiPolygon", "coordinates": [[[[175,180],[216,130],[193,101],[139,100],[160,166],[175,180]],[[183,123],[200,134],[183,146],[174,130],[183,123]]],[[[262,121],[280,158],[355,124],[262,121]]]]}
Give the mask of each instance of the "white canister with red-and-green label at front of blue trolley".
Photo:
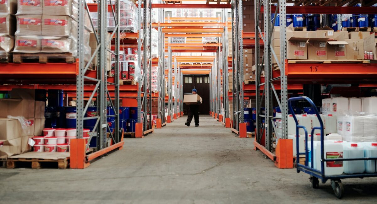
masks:
{"type": "MultiPolygon", "coordinates": [[[[343,158],[343,141],[324,140],[323,141],[323,157],[325,159],[343,158]]],[[[316,153],[316,167],[321,171],[321,143],[317,143],[314,150],[316,153]]],[[[343,161],[326,161],[325,175],[343,174],[343,161]]]]}

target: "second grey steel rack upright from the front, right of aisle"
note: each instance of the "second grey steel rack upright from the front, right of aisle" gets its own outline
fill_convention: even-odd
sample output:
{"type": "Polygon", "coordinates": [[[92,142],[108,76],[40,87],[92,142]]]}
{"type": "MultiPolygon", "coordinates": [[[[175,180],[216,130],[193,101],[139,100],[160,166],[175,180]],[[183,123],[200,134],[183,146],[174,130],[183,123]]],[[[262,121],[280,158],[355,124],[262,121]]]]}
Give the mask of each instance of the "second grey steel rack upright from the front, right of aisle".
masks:
{"type": "Polygon", "coordinates": [[[244,122],[244,79],[242,0],[232,0],[232,72],[233,72],[233,128],[239,131],[239,123],[244,122]]]}

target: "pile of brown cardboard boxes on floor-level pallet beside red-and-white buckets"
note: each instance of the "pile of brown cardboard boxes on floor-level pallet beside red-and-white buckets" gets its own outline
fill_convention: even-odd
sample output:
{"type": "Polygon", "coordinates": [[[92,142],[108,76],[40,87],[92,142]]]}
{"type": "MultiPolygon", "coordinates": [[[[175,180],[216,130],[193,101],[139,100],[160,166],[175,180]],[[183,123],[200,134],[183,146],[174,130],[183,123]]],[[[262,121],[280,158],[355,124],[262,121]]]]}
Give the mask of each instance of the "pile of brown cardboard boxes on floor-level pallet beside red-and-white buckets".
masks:
{"type": "Polygon", "coordinates": [[[29,138],[41,135],[44,127],[45,102],[35,100],[35,90],[13,89],[11,96],[0,99],[0,157],[30,151],[29,138]]]}

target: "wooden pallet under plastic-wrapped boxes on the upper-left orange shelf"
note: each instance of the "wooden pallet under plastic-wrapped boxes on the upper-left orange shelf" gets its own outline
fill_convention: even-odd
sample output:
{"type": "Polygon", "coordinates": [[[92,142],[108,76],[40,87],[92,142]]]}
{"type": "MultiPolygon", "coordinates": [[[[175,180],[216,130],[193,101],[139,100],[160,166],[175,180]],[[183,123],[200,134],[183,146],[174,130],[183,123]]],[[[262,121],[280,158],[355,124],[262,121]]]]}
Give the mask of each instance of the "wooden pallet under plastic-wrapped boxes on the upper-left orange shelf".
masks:
{"type": "Polygon", "coordinates": [[[72,53],[13,53],[14,63],[74,63],[75,60],[76,58],[72,55],[72,53]]]}

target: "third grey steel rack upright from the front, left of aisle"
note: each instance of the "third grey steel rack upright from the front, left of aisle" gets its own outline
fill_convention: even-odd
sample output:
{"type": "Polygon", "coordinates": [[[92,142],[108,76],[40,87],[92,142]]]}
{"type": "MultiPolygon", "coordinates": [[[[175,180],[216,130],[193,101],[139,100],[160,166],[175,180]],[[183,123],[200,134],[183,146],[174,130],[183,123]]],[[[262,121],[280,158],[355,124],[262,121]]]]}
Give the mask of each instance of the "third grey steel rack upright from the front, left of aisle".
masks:
{"type": "MultiPolygon", "coordinates": [[[[164,9],[158,9],[159,22],[164,23],[164,9]]],[[[162,32],[162,27],[158,27],[158,115],[157,118],[161,119],[161,124],[165,123],[165,33],[162,32]]]]}

